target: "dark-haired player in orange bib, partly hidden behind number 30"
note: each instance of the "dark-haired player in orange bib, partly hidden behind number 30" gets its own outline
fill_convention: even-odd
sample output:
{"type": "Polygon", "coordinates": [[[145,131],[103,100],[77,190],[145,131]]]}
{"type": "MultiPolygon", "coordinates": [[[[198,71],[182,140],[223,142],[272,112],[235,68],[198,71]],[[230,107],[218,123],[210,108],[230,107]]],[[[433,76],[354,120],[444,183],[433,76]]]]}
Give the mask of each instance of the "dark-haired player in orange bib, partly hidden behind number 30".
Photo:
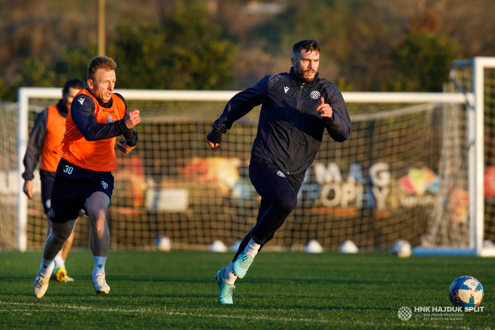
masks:
{"type": "MultiPolygon", "coordinates": [[[[51,232],[51,186],[55,179],[55,170],[60,161],[60,155],[52,153],[51,149],[59,145],[62,141],[63,133],[65,132],[65,118],[67,118],[72,100],[82,89],[84,89],[84,83],[79,79],[70,79],[65,82],[62,89],[62,99],[59,100],[56,105],[41,111],[36,117],[35,124],[31,130],[26,156],[24,157],[24,167],[26,169],[22,174],[22,177],[25,180],[24,193],[28,195],[29,198],[33,198],[33,171],[41,156],[41,200],[48,220],[47,237],[51,232]]],[[[74,280],[67,276],[67,271],[65,270],[65,259],[67,259],[67,254],[72,246],[73,239],[74,230],[72,230],[69,238],[67,238],[62,249],[54,259],[55,268],[52,277],[60,282],[74,280]]]]}

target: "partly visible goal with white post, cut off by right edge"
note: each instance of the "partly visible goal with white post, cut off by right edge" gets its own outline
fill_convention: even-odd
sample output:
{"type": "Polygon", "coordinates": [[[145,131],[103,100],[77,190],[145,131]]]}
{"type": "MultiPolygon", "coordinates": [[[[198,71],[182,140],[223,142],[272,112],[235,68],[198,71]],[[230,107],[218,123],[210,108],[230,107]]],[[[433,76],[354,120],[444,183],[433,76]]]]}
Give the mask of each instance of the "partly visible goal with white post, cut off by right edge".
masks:
{"type": "Polygon", "coordinates": [[[469,105],[473,117],[473,133],[468,139],[473,221],[468,241],[478,255],[495,256],[495,57],[454,61],[450,78],[452,91],[474,95],[469,105]]]}

